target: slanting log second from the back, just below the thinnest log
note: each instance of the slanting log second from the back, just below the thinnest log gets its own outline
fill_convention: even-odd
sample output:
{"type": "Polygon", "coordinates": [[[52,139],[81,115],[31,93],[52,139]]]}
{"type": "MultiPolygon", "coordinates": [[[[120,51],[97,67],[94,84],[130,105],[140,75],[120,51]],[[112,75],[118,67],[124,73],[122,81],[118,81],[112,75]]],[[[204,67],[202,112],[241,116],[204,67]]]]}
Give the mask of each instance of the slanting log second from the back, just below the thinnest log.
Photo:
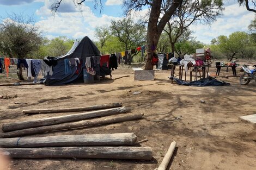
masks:
{"type": "Polygon", "coordinates": [[[2,130],[4,132],[7,132],[7,131],[20,130],[20,129],[42,127],[42,126],[65,123],[65,122],[81,121],[83,119],[88,119],[93,117],[116,115],[116,114],[121,114],[128,111],[131,111],[131,109],[130,108],[113,108],[113,109],[84,112],[81,114],[36,119],[33,121],[6,123],[2,125],[2,130]]]}

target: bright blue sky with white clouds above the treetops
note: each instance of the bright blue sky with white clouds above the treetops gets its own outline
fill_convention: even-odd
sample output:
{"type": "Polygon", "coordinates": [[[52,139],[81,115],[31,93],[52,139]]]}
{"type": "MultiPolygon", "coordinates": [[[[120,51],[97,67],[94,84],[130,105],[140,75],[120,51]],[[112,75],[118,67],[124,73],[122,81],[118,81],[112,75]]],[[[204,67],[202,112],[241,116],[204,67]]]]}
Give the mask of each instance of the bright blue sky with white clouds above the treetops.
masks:
{"type": "MultiPolygon", "coordinates": [[[[35,19],[44,36],[53,39],[66,36],[70,39],[81,39],[88,36],[97,40],[94,34],[96,27],[109,26],[111,20],[120,20],[124,17],[122,0],[103,0],[103,9],[95,9],[93,0],[86,0],[79,7],[74,0],[63,0],[57,13],[53,16],[51,4],[54,0],[0,0],[0,16],[8,14],[24,14],[35,19]]],[[[75,0],[76,1],[76,0],[75,0]]],[[[230,35],[233,32],[248,32],[248,25],[254,18],[254,12],[239,7],[236,0],[224,0],[223,15],[209,25],[196,24],[190,27],[193,36],[200,42],[210,44],[210,41],[219,35],[230,35]]],[[[145,11],[141,12],[141,15],[145,11]]],[[[138,14],[139,15],[139,14],[138,14]]]]}

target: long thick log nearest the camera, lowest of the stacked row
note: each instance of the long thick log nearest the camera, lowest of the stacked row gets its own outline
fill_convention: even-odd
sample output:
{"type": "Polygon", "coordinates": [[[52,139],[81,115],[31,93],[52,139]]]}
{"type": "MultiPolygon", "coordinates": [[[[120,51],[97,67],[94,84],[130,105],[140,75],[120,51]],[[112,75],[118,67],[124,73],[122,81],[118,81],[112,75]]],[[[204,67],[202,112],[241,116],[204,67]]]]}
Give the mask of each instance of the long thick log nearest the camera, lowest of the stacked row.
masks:
{"type": "Polygon", "coordinates": [[[2,148],[10,158],[100,158],[151,160],[150,147],[2,148]]]}

